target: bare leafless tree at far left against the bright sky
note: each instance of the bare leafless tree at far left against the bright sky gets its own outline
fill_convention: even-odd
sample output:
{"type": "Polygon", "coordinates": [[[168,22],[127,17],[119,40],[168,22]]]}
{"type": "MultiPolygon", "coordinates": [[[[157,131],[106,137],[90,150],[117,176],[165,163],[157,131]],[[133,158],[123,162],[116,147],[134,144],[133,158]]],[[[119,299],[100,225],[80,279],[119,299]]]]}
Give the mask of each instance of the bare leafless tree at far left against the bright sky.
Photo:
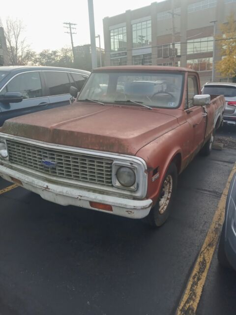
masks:
{"type": "Polygon", "coordinates": [[[21,20],[7,19],[4,34],[7,44],[9,63],[11,65],[27,65],[33,63],[36,53],[30,49],[23,38],[25,27],[21,20]]]}

